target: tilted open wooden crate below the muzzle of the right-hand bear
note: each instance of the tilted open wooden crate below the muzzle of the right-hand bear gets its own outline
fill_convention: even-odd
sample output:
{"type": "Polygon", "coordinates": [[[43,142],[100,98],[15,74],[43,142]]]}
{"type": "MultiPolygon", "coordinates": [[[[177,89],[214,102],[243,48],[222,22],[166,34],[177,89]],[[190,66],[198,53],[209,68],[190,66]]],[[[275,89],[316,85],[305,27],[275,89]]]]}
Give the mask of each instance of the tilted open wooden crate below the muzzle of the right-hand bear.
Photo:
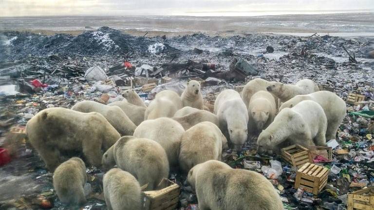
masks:
{"type": "Polygon", "coordinates": [[[310,155],[309,149],[294,144],[289,147],[281,149],[281,157],[291,163],[293,166],[301,167],[305,163],[313,163],[312,156],[310,155]]]}

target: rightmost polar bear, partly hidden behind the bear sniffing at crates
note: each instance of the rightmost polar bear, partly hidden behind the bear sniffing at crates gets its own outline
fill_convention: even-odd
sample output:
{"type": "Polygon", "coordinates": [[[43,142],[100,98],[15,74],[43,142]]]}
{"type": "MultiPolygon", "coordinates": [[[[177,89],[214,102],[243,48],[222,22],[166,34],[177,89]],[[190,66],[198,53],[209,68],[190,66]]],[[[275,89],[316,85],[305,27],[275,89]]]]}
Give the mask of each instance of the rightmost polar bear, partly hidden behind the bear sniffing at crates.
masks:
{"type": "Polygon", "coordinates": [[[283,108],[292,108],[301,101],[312,100],[317,102],[323,108],[327,118],[326,140],[335,139],[337,129],[347,113],[347,105],[337,94],[330,91],[318,91],[308,95],[297,95],[284,102],[279,110],[283,108]]]}

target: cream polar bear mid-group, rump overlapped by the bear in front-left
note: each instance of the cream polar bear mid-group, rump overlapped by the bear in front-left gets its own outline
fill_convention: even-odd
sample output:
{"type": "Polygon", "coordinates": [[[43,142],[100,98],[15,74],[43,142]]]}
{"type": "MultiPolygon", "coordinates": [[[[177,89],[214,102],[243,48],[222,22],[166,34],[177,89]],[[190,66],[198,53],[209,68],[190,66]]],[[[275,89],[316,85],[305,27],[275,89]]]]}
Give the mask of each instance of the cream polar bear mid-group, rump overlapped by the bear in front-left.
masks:
{"type": "Polygon", "coordinates": [[[157,118],[146,120],[135,129],[134,137],[157,141],[168,155],[171,167],[178,165],[181,138],[185,129],[182,125],[170,118],[157,118]]]}

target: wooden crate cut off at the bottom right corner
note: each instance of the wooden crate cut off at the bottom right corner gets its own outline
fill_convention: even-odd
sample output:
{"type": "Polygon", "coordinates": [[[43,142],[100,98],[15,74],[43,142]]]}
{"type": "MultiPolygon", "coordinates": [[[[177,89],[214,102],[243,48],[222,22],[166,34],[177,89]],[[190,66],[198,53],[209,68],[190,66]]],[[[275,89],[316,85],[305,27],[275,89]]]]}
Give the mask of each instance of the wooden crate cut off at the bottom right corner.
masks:
{"type": "Polygon", "coordinates": [[[348,192],[348,210],[374,210],[374,186],[348,192]]]}

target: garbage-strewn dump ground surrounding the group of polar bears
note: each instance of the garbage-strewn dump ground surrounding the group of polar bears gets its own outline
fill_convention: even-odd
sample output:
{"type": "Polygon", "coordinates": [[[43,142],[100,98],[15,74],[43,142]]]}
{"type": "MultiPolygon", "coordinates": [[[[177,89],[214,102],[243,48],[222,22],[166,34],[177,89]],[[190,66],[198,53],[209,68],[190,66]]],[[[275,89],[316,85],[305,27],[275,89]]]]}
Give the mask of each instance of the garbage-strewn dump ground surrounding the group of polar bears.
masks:
{"type": "MultiPolygon", "coordinates": [[[[286,153],[256,154],[255,140],[240,153],[223,153],[224,162],[232,167],[266,176],[285,209],[343,210],[354,202],[347,193],[373,186],[374,62],[367,59],[366,52],[373,49],[368,39],[263,34],[135,37],[107,27],[78,36],[7,32],[0,37],[6,40],[1,55],[5,59],[0,62],[0,188],[9,189],[0,192],[0,210],[68,209],[57,199],[52,174],[25,140],[25,125],[37,112],[71,108],[83,100],[120,101],[121,91],[130,88],[148,104],[161,90],[181,93],[190,79],[201,82],[211,110],[221,90],[240,92],[257,77],[283,83],[313,79],[321,90],[334,91],[347,101],[349,113],[337,140],[329,141],[328,148],[299,148],[307,151],[303,154],[308,163],[318,165],[313,170],[325,173],[319,177],[324,186],[317,194],[295,187],[302,185],[297,176],[304,171],[298,172],[302,166],[295,166],[286,153]]],[[[96,168],[87,173],[88,202],[81,209],[106,209],[104,173],[96,168]]],[[[171,173],[169,179],[181,186],[178,209],[196,210],[196,195],[186,177],[171,173]]],[[[367,194],[373,193],[362,196],[367,194]]]]}

